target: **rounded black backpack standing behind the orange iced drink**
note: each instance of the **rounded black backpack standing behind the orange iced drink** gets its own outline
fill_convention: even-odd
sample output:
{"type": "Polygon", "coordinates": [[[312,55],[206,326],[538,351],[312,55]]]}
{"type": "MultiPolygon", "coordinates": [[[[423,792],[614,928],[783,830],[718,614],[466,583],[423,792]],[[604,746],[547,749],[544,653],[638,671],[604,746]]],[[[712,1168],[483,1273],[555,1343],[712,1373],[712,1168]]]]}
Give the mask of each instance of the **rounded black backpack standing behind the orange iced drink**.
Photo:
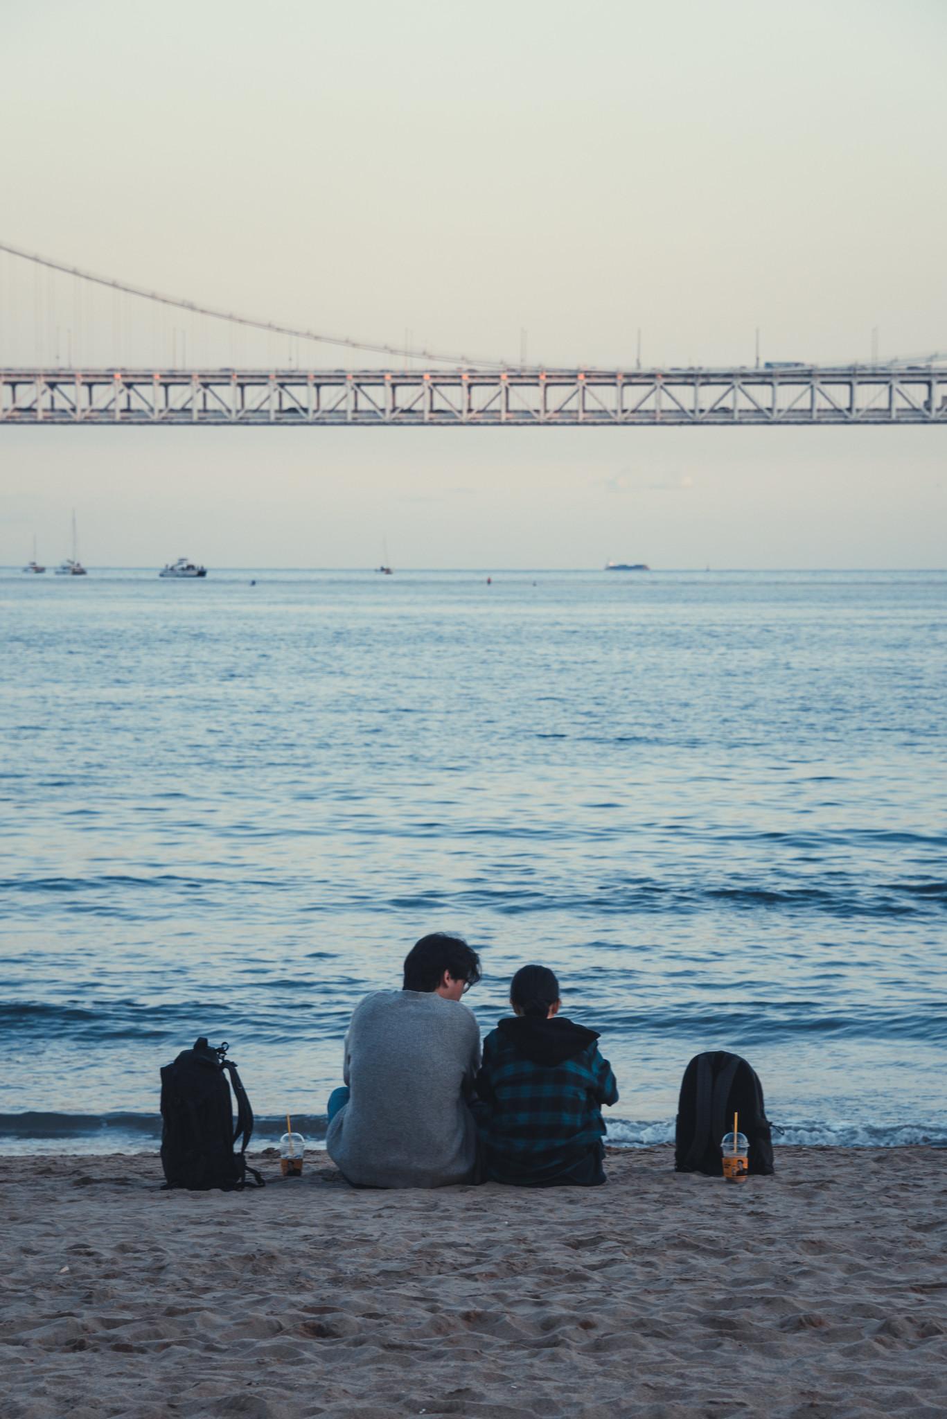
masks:
{"type": "Polygon", "coordinates": [[[723,1176],[720,1139],[740,1114],[740,1132],[750,1141],[750,1172],[771,1174],[772,1125],[762,1104],[755,1070],[727,1050],[696,1054],[680,1086],[674,1127],[674,1168],[723,1176]]]}

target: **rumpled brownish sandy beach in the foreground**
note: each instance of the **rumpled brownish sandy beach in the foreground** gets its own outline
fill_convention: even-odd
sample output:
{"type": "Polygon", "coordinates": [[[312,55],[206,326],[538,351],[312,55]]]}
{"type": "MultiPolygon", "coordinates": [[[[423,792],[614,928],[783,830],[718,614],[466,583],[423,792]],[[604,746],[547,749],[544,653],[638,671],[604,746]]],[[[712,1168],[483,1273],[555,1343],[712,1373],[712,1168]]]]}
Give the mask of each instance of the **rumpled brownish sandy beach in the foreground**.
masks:
{"type": "Polygon", "coordinates": [[[947,1154],[609,1155],[606,1188],[166,1193],[3,1159],[4,1419],[947,1415],[947,1154]]]}

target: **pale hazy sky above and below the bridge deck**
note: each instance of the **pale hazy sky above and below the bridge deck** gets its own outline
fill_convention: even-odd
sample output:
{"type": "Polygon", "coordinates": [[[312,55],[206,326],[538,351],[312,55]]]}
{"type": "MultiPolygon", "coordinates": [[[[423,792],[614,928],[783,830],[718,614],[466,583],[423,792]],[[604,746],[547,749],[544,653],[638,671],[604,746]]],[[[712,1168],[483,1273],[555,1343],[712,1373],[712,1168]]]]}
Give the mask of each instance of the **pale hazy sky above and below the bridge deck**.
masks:
{"type": "MultiPolygon", "coordinates": [[[[764,359],[920,356],[946,61],[943,0],[37,0],[3,16],[0,238],[372,341],[518,359],[525,331],[531,362],[629,366],[639,328],[646,363],[750,365],[757,328],[764,359]]],[[[87,363],[166,349],[82,299],[0,258],[0,363],[37,311],[87,363]]],[[[229,349],[202,362],[285,362],[229,349]]],[[[0,563],[34,534],[58,561],[72,507],[91,566],[382,536],[400,566],[944,566],[947,426],[0,429],[0,563]]]]}

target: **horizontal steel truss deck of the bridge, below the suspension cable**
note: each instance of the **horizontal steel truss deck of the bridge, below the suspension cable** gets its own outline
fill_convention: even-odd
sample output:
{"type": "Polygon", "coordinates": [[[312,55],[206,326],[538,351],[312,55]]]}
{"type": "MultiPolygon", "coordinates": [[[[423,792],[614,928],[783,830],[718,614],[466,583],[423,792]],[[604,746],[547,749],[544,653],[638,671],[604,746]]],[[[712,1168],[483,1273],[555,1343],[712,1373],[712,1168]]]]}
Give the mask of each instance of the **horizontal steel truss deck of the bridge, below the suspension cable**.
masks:
{"type": "Polygon", "coordinates": [[[0,423],[510,429],[947,424],[947,369],[4,369],[0,423]]]}

